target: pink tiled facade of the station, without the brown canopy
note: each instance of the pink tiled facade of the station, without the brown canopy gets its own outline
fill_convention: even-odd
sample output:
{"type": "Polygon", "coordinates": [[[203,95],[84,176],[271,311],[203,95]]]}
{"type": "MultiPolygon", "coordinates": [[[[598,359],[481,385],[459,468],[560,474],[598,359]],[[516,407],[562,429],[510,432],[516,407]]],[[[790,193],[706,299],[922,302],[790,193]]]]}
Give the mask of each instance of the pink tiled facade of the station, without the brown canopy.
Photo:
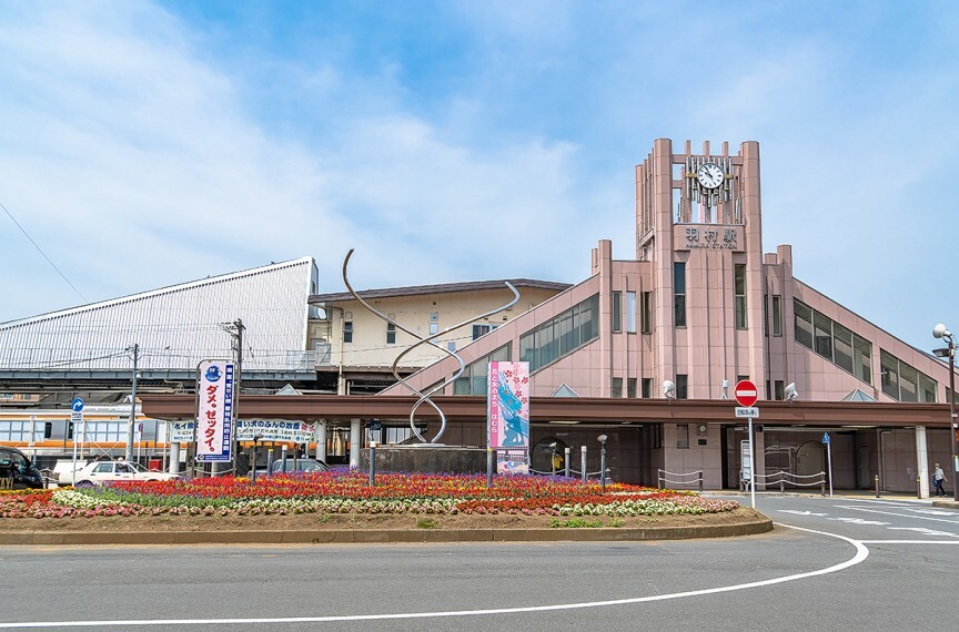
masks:
{"type": "MultiPolygon", "coordinates": [[[[784,398],[790,384],[804,400],[839,401],[855,391],[880,401],[946,400],[948,368],[939,360],[794,277],[789,245],[764,251],[758,143],[743,143],[730,154],[726,143],[718,151],[705,143],[694,152],[689,142],[677,147],[669,140],[657,140],[636,167],[635,186],[635,258],[613,259],[612,243],[600,241],[582,283],[465,347],[461,356],[467,364],[503,345],[511,346],[514,360],[525,359],[521,357],[524,335],[597,296],[598,337],[535,368],[534,396],[551,396],[565,385],[581,397],[663,398],[664,381],[679,387],[685,376],[685,394],[679,396],[688,399],[721,397],[724,380],[731,398],[733,385],[746,377],[759,387],[760,401],[784,398]],[[700,170],[713,170],[716,180],[700,180],[700,170]],[[719,184],[706,186],[704,180],[719,184]],[[676,264],[685,264],[680,287],[676,264]],[[685,294],[685,325],[677,323],[679,294],[685,294]],[[628,295],[635,297],[635,319],[627,307],[628,295]],[[614,317],[616,296],[619,313],[614,317]],[[643,317],[644,296],[649,300],[648,319],[643,317]],[[801,328],[797,309],[815,315],[809,325],[812,337],[805,342],[797,338],[801,328]],[[880,361],[884,351],[895,360],[896,370],[886,370],[880,361]],[[894,386],[895,396],[887,394],[894,386]]],[[[455,363],[444,360],[411,381],[425,387],[454,370],[455,363]]],[[[453,387],[446,393],[452,394],[453,387]]],[[[557,431],[544,428],[539,434],[552,437],[557,431]]],[[[861,436],[844,436],[834,449],[848,458],[838,465],[835,481],[868,487],[880,472],[889,489],[915,489],[913,475],[928,465],[917,462],[915,439],[904,448],[902,441],[909,444],[913,431],[897,432],[896,447],[887,447],[888,459],[878,444],[891,438],[870,429],[861,430],[861,436]],[[911,453],[911,466],[904,465],[909,461],[904,453],[911,453]],[[875,462],[879,460],[881,467],[875,462]]],[[[929,460],[948,460],[948,453],[937,451],[941,437],[930,435],[936,441],[930,439],[929,460]]],[[[736,447],[744,436],[734,422],[685,430],[664,422],[656,432],[646,426],[620,430],[616,437],[619,467],[642,482],[655,485],[655,472],[666,469],[704,470],[707,487],[738,483],[736,447]],[[679,448],[684,441],[677,432],[687,430],[688,446],[679,448]]],[[[811,444],[819,437],[805,436],[798,428],[791,434],[757,436],[757,470],[763,471],[765,460],[775,460],[776,467],[783,461],[787,465],[781,467],[794,470],[817,461],[811,444]]],[[[818,467],[818,461],[814,465],[818,467]]]]}

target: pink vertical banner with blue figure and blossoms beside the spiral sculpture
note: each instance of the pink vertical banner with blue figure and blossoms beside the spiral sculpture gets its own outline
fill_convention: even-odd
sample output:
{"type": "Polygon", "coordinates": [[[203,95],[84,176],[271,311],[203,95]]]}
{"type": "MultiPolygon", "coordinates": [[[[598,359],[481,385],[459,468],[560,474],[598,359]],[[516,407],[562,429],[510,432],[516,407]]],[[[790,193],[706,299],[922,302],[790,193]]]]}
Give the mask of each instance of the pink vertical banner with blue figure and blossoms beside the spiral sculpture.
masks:
{"type": "Polygon", "coordinates": [[[486,436],[498,473],[529,473],[529,363],[489,363],[486,436]]]}

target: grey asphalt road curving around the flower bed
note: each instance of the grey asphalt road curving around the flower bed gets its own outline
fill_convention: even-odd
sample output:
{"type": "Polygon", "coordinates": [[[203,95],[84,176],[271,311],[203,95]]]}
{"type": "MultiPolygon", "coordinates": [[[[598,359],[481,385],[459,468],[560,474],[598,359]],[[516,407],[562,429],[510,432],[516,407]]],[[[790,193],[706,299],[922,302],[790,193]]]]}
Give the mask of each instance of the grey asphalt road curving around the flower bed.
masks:
{"type": "Polygon", "coordinates": [[[771,533],[716,540],[0,547],[0,630],[959,628],[959,512],[818,497],[757,508],[771,533]]]}

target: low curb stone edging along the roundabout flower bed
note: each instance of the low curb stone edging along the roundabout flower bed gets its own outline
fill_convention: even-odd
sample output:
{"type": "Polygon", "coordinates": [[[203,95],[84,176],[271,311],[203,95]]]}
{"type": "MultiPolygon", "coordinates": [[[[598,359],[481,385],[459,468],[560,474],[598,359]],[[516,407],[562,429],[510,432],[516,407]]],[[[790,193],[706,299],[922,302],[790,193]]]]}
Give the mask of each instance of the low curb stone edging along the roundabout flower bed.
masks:
{"type": "Polygon", "coordinates": [[[450,542],[627,542],[733,538],[773,530],[773,520],[736,524],[584,529],[423,529],[289,531],[6,531],[0,546],[387,544],[450,542]]]}

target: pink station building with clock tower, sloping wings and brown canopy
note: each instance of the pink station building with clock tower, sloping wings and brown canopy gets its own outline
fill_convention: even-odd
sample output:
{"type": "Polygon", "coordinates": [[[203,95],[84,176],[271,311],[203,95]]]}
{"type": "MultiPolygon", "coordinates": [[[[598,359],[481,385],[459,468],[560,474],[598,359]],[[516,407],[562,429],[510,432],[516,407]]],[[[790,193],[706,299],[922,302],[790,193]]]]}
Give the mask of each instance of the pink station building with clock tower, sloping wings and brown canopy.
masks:
{"type": "MultiPolygon", "coordinates": [[[[829,455],[836,488],[928,493],[932,463],[952,460],[948,406],[936,404],[952,395],[948,365],[794,276],[790,246],[767,253],[759,145],[717,149],[657,140],[635,171],[635,257],[599,242],[585,281],[463,349],[467,373],[445,394],[485,393],[491,358],[528,361],[534,467],[547,469],[553,444],[597,452],[602,432],[625,480],[701,472],[720,489],[740,485],[747,436],[731,389],[748,379],[757,473],[816,480],[829,455]],[[566,401],[582,416],[537,416],[551,397],[579,398],[566,401]]],[[[444,359],[411,383],[456,368],[444,359]]],[[[480,431],[461,439],[482,445],[480,431]]]]}

